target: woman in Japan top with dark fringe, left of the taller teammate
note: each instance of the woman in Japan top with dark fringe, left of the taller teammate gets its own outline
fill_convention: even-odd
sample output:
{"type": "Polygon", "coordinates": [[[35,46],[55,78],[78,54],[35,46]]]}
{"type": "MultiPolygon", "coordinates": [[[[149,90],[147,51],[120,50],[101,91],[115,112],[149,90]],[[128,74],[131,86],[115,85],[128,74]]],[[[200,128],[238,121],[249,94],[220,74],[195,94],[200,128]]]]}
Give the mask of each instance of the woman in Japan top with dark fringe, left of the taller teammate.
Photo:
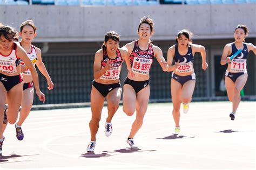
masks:
{"type": "Polygon", "coordinates": [[[105,135],[112,133],[112,118],[116,113],[122,94],[119,75],[123,63],[123,58],[127,55],[126,49],[119,47],[119,35],[110,31],[107,32],[104,44],[95,54],[93,65],[93,75],[91,90],[91,111],[90,121],[91,141],[87,147],[87,152],[93,152],[96,146],[96,134],[99,129],[99,121],[102,116],[102,109],[106,97],[107,113],[105,123],[105,135]]]}

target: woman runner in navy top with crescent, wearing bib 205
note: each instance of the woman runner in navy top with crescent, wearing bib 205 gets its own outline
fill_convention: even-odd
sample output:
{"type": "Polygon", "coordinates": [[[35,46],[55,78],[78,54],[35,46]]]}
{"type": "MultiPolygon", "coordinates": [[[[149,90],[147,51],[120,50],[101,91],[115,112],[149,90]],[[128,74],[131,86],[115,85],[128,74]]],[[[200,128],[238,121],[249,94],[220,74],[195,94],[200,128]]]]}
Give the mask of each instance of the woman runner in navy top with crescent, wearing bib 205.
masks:
{"type": "Polygon", "coordinates": [[[202,68],[207,69],[206,52],[204,46],[192,44],[192,33],[188,30],[181,30],[177,34],[176,45],[169,48],[167,52],[167,63],[169,72],[172,73],[171,95],[173,103],[172,116],[175,122],[174,135],[180,131],[180,104],[183,103],[183,112],[188,112],[188,103],[192,100],[194,87],[196,85],[196,74],[194,74],[193,60],[196,52],[201,53],[202,68]],[[172,62],[175,65],[172,65],[172,62]]]}

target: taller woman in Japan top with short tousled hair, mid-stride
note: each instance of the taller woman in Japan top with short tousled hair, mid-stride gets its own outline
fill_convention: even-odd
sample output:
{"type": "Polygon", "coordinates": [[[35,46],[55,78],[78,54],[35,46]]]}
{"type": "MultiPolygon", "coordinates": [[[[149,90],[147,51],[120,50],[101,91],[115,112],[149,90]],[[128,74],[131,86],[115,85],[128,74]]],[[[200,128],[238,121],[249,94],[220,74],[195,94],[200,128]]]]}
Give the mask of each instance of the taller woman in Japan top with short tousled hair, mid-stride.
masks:
{"type": "Polygon", "coordinates": [[[132,147],[133,137],[142,127],[144,115],[149,103],[150,86],[149,70],[153,59],[156,58],[163,71],[167,71],[168,65],[163,57],[163,52],[158,46],[151,43],[150,37],[154,33],[154,23],[149,17],[140,19],[138,26],[139,39],[126,44],[128,55],[126,65],[129,73],[124,82],[123,111],[132,116],[136,111],[136,119],[132,124],[127,143],[132,147]]]}

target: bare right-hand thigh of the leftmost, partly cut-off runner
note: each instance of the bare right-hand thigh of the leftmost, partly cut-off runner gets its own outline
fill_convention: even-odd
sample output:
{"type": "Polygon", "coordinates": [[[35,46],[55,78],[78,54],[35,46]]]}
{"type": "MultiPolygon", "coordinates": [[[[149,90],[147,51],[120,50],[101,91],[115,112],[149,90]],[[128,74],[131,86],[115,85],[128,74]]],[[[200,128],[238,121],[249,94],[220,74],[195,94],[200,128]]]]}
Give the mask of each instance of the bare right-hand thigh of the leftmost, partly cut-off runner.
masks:
{"type": "Polygon", "coordinates": [[[22,99],[23,82],[16,84],[7,93],[8,102],[8,117],[18,115],[19,106],[21,105],[22,99]]]}

